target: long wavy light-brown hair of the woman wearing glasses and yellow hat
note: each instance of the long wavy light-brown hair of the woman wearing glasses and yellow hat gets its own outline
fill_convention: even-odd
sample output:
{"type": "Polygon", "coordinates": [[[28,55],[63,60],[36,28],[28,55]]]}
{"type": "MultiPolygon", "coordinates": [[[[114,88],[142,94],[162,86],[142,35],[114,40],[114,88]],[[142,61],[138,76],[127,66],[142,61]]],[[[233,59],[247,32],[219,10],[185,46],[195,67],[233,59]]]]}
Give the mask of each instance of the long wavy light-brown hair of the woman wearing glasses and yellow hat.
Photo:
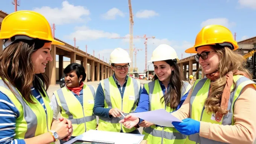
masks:
{"type": "MultiPolygon", "coordinates": [[[[216,113],[217,111],[223,115],[227,114],[228,111],[220,107],[221,105],[221,96],[226,85],[226,74],[228,72],[233,72],[235,70],[245,72],[250,78],[250,72],[245,68],[246,60],[245,58],[238,54],[237,52],[232,51],[229,47],[217,47],[216,52],[220,58],[218,71],[219,77],[218,80],[212,82],[211,89],[213,90],[210,96],[204,102],[204,107],[207,112],[216,113]]],[[[233,81],[233,84],[236,88],[236,83],[233,81]]],[[[234,89],[235,89],[234,88],[234,89]]],[[[233,90],[234,90],[233,89],[233,90]]]]}

